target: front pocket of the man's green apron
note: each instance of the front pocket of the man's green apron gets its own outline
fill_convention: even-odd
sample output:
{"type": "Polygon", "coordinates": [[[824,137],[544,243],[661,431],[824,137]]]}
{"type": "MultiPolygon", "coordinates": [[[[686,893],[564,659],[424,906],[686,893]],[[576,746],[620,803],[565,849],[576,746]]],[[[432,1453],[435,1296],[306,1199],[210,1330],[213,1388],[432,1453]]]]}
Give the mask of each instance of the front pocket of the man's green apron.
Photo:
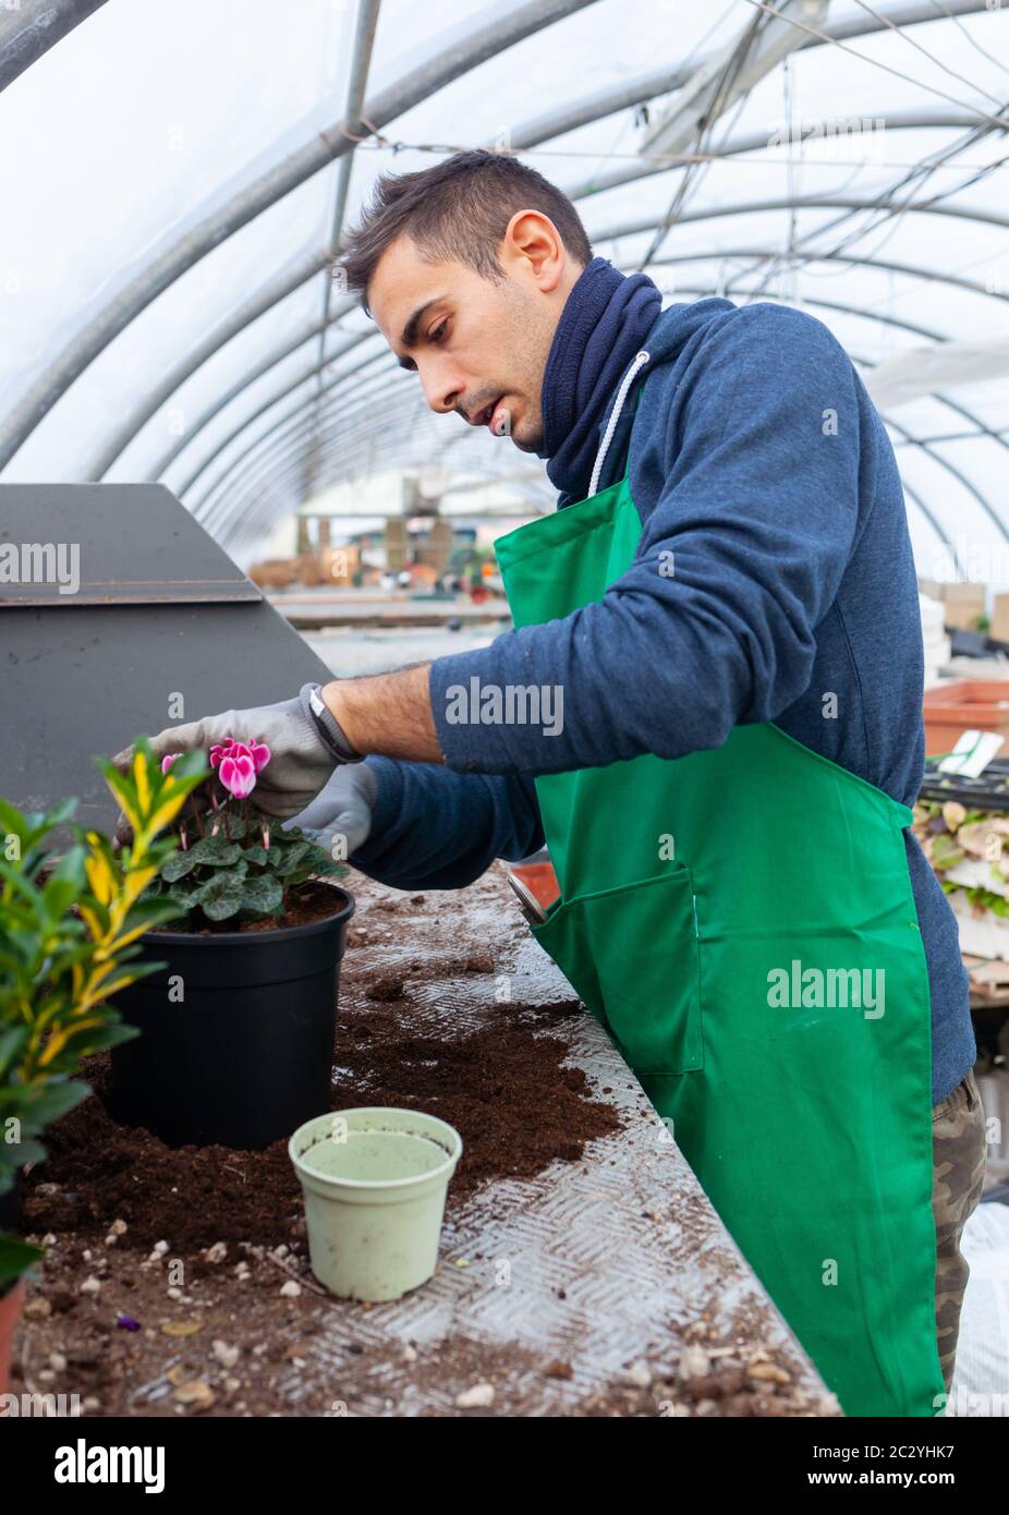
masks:
{"type": "Polygon", "coordinates": [[[682,864],[554,904],[530,930],[638,1076],[704,1065],[697,915],[682,864]]]}

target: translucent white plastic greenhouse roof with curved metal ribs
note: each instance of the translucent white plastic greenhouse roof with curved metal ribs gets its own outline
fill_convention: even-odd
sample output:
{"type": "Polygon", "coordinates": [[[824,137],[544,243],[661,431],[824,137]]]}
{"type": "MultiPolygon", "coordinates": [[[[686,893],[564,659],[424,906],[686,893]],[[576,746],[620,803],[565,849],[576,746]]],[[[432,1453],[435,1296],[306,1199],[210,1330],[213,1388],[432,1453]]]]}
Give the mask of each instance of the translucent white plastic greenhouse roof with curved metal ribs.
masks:
{"type": "Polygon", "coordinates": [[[239,562],[386,470],[551,509],[332,279],[379,173],[497,145],[667,301],[826,321],[920,571],[1009,583],[1009,5],[0,0],[0,88],[3,482],[161,479],[239,562]]]}

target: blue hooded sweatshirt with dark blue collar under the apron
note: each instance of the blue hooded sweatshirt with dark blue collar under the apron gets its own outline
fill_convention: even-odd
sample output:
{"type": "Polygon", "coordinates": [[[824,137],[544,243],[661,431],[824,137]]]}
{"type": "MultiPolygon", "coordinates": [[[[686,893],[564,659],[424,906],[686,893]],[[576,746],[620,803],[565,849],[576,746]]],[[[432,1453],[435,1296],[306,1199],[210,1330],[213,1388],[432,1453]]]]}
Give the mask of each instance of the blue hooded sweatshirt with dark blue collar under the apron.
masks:
{"type": "MultiPolygon", "coordinates": [[[[914,804],[924,764],[918,585],[894,451],[851,361],[814,317],[700,300],[661,311],[644,274],[592,259],[542,385],[559,508],[589,494],[621,379],[639,351],[598,489],[623,477],[642,521],[601,601],[438,658],[445,765],[368,758],[373,830],[350,862],[400,889],[471,883],[544,842],[533,777],[720,747],[774,721],[914,804]],[[658,565],[674,553],[676,574],[658,565]],[[562,729],[458,723],[451,688],[561,685],[562,729]],[[832,697],[832,698],[830,698],[832,697]]],[[[503,445],[508,445],[503,442],[503,445]]],[[[956,918],[904,832],[932,994],[933,1101],[976,1057],[956,918]]]]}

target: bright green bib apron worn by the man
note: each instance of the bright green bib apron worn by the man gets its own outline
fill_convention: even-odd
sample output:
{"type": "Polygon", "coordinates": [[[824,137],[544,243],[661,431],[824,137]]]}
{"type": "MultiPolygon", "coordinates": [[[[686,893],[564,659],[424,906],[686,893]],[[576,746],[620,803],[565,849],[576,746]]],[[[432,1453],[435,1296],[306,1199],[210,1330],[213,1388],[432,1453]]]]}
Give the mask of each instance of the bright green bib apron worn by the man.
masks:
{"type": "MultiPolygon", "coordinates": [[[[639,535],[624,477],[498,538],[515,626],[601,600],[639,535]]],[[[535,783],[561,898],[533,935],[845,1413],[935,1415],[912,812],[773,724],[535,783]]]]}

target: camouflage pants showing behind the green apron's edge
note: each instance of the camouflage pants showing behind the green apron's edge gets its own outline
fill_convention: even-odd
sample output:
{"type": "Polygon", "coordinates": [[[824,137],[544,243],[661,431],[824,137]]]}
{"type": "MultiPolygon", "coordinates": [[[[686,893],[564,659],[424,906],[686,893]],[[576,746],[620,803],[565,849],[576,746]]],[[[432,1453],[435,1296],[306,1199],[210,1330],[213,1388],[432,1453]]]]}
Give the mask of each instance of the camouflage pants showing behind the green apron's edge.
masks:
{"type": "Polygon", "coordinates": [[[961,1306],[970,1267],[961,1251],[964,1226],[982,1195],[985,1110],[974,1073],[932,1107],[932,1214],[935,1215],[935,1333],[945,1392],[953,1383],[961,1306]]]}

